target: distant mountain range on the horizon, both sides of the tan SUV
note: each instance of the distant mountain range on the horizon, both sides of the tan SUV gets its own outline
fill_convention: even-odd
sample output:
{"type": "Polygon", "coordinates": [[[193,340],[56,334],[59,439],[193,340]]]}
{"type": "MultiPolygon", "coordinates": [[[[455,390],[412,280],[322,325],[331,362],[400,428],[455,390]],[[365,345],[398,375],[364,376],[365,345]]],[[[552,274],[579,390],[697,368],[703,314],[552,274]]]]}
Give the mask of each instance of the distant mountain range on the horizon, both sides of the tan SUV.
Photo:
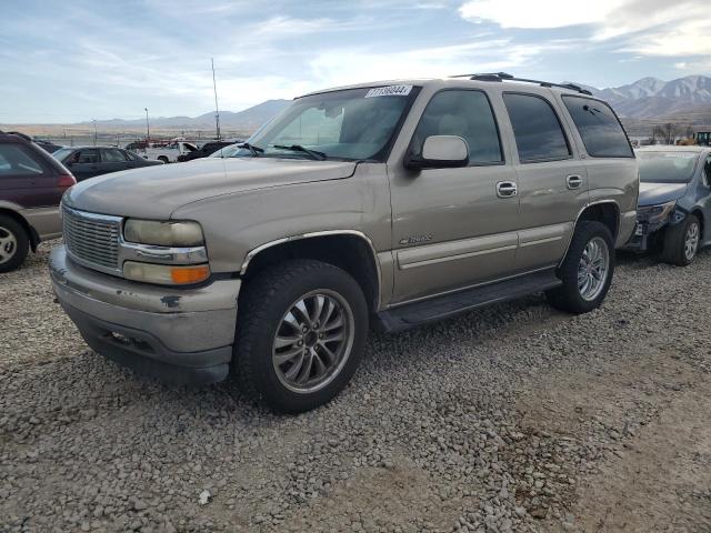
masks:
{"type": "MultiPolygon", "coordinates": [[[[711,77],[688,76],[671,81],[642,78],[627,86],[608,89],[597,89],[578,82],[575,84],[610,102],[623,119],[660,120],[677,115],[684,117],[684,121],[711,122],[711,77]]],[[[267,100],[243,111],[220,111],[220,124],[226,129],[253,131],[290,102],[291,100],[267,100]]],[[[143,119],[97,121],[97,125],[110,129],[142,128],[144,123],[143,119]]],[[[194,118],[151,118],[150,123],[153,128],[211,129],[214,127],[214,113],[209,112],[194,118]]]]}

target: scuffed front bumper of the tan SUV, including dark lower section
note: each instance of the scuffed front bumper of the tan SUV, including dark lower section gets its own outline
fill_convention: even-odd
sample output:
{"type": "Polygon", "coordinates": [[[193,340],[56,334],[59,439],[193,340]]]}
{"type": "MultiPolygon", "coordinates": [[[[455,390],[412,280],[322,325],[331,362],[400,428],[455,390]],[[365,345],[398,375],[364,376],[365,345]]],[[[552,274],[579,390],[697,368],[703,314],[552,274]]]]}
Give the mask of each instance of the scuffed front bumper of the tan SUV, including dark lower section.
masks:
{"type": "Polygon", "coordinates": [[[60,304],[98,353],[176,383],[227,378],[241,280],[197,289],[138,283],[80,266],[63,247],[49,270],[60,304]]]}

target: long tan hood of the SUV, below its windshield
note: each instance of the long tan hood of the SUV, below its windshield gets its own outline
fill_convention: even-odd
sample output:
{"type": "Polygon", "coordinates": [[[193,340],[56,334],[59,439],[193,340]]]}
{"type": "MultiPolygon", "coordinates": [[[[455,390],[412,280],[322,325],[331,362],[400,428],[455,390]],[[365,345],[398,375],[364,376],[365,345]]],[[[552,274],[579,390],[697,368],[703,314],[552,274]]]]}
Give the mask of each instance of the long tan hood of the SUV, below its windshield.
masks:
{"type": "Polygon", "coordinates": [[[84,180],[64,195],[67,205],[101,214],[168,219],[190,202],[234,192],[353,175],[349,161],[229,158],[114,172],[84,180]]]}

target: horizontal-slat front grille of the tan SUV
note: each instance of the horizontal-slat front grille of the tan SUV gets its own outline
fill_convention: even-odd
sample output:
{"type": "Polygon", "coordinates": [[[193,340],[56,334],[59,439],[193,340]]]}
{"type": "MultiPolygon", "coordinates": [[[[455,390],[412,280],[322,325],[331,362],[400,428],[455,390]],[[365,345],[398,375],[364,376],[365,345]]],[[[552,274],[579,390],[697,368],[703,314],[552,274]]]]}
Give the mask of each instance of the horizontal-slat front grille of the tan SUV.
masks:
{"type": "Polygon", "coordinates": [[[121,219],[62,209],[62,232],[69,254],[98,270],[119,270],[121,219]]]}

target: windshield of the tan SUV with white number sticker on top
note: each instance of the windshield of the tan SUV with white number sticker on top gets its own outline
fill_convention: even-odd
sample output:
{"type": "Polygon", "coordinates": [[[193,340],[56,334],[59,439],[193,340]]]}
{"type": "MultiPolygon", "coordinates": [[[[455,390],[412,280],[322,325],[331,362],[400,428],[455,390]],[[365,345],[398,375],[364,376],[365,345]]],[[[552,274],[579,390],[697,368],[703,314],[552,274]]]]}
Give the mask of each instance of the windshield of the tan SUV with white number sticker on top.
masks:
{"type": "MultiPolygon", "coordinates": [[[[249,143],[259,157],[384,161],[417,92],[391,86],[299,98],[249,143]]],[[[234,155],[249,154],[242,149],[234,155]]]]}

